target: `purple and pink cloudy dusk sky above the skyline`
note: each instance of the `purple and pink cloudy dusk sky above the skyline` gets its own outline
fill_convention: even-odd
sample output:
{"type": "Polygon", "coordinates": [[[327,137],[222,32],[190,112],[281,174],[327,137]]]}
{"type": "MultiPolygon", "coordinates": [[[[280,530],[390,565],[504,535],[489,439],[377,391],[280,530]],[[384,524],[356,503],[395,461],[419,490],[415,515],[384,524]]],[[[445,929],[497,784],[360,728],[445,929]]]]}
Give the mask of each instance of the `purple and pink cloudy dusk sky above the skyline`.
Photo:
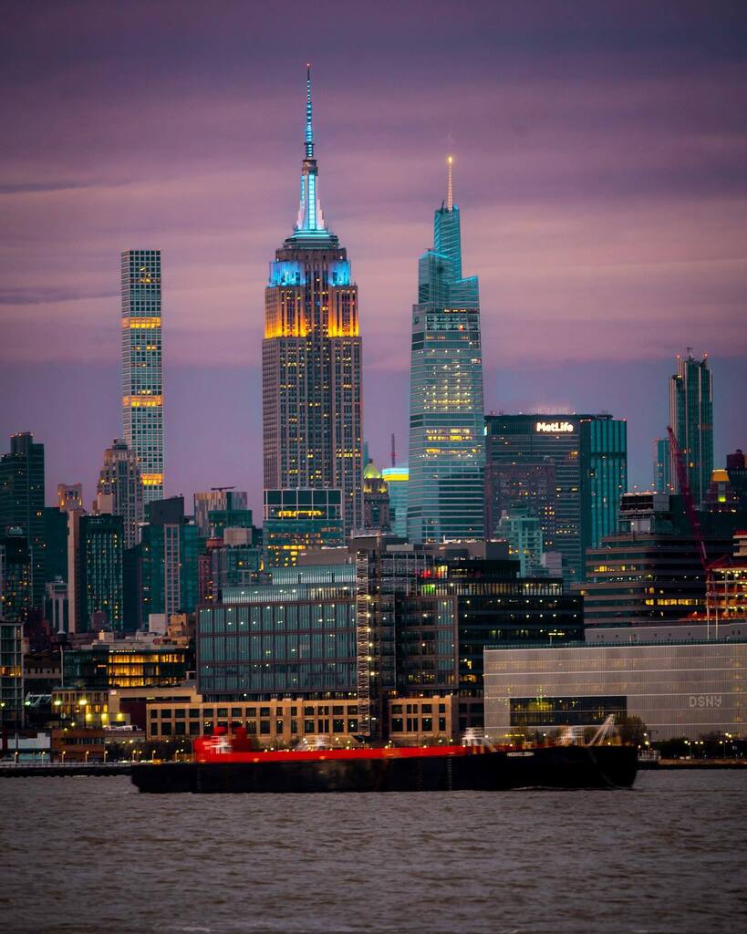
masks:
{"type": "Polygon", "coordinates": [[[6,2],[0,449],[47,499],[120,435],[120,250],[161,248],[166,492],[261,503],[267,264],[319,191],[359,284],[364,426],[406,457],[411,306],[455,156],[486,410],[628,419],[651,481],[668,377],[711,357],[747,446],[747,5],[6,2]]]}

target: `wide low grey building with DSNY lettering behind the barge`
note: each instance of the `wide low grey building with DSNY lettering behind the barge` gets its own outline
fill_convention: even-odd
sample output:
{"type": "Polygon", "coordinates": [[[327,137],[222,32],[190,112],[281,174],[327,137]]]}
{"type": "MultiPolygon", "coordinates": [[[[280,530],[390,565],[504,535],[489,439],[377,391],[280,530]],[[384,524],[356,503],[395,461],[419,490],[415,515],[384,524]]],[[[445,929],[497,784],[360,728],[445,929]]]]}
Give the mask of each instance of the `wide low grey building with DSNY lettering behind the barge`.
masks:
{"type": "Polygon", "coordinates": [[[747,640],[486,649],[486,732],[640,716],[654,740],[747,735],[747,640]]]}

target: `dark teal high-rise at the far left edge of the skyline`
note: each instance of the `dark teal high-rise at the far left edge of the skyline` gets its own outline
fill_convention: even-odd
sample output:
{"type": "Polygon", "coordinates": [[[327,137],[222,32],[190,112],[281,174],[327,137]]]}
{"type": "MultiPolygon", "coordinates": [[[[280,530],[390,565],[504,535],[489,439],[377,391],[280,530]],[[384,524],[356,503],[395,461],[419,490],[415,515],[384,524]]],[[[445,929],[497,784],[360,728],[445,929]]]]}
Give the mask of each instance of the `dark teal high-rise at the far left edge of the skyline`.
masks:
{"type": "Polygon", "coordinates": [[[31,605],[44,605],[44,445],[31,432],[10,437],[10,451],[0,456],[0,535],[18,530],[31,559],[31,605]]]}

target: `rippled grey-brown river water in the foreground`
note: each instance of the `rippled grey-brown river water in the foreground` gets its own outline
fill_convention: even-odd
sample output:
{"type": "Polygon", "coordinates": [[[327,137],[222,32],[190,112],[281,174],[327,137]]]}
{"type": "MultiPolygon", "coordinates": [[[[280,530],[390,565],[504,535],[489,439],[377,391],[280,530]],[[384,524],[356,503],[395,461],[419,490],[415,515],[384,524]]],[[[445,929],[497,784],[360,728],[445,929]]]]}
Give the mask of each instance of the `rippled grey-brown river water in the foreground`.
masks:
{"type": "Polygon", "coordinates": [[[0,779],[0,929],[743,929],[747,772],[632,791],[142,795],[0,779]]]}

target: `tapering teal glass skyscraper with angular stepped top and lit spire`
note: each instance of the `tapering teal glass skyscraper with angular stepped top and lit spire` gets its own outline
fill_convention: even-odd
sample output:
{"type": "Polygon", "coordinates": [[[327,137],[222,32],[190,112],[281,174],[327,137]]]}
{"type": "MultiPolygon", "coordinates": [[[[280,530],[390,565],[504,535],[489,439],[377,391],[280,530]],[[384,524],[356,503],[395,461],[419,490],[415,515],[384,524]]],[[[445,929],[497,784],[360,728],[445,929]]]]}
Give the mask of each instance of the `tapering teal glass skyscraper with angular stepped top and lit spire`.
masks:
{"type": "Polygon", "coordinates": [[[410,374],[411,542],[484,533],[483,364],[477,276],[461,273],[459,208],[451,157],[433,249],[418,264],[410,374]]]}

